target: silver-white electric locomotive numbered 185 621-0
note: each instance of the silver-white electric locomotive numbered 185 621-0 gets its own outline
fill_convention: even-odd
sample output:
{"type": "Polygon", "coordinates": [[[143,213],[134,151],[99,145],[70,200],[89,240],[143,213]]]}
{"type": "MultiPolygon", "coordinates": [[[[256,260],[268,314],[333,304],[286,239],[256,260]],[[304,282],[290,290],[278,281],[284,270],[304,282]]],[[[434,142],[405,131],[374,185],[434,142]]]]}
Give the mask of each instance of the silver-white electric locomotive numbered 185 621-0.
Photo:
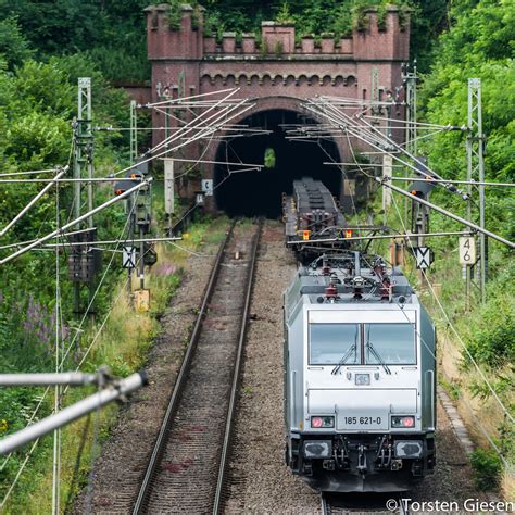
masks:
{"type": "Polygon", "coordinates": [[[342,251],[285,292],[286,461],[321,491],[402,491],[435,467],[434,324],[399,268],[342,251]]]}

